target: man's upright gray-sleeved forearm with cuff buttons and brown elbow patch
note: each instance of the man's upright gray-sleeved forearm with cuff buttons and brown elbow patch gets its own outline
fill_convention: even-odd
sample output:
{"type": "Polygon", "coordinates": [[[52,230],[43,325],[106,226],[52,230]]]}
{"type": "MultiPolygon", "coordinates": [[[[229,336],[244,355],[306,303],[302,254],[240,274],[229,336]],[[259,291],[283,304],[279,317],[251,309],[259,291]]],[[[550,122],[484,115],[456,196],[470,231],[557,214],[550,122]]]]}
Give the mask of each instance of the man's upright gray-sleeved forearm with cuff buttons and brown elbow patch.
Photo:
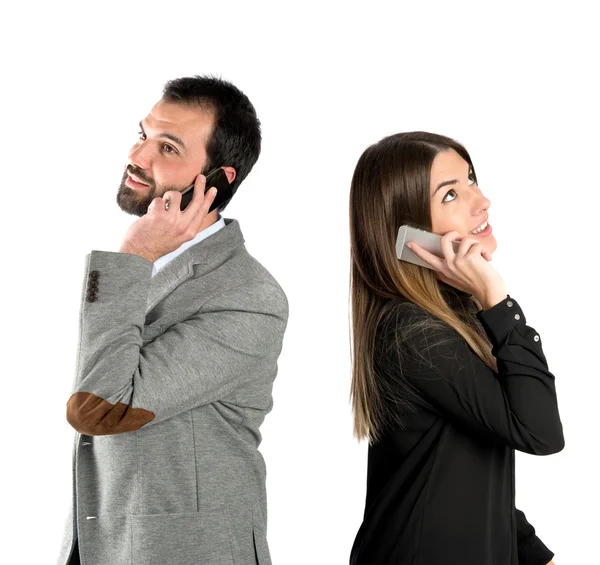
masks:
{"type": "Polygon", "coordinates": [[[136,253],[87,256],[86,272],[96,273],[88,283],[93,282],[94,294],[81,304],[75,390],[67,402],[67,421],[79,433],[122,433],[154,418],[131,406],[151,271],[152,264],[136,253]]]}

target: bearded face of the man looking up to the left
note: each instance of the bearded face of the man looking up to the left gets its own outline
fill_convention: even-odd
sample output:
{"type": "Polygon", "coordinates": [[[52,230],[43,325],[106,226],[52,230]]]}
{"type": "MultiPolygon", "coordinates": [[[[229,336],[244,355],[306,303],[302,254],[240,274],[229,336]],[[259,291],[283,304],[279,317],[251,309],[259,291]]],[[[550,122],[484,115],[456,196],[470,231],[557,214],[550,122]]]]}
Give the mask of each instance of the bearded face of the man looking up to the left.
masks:
{"type": "Polygon", "coordinates": [[[139,140],[129,151],[117,193],[121,210],[141,217],[154,198],[193,184],[204,170],[213,123],[213,113],[197,106],[164,100],[155,104],[140,122],[139,140]]]}

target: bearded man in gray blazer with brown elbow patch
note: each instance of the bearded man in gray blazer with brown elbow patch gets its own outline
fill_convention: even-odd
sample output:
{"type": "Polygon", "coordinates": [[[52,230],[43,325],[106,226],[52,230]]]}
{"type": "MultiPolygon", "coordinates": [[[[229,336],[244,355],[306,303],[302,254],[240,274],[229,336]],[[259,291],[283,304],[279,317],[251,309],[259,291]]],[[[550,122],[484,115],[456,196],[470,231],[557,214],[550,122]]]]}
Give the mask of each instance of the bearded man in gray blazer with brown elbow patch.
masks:
{"type": "Polygon", "coordinates": [[[140,219],[85,261],[58,564],[270,564],[259,426],[288,303],[204,195],[217,167],[235,193],[260,123],[235,86],[197,76],[168,82],[140,128],[117,194],[140,219]]]}

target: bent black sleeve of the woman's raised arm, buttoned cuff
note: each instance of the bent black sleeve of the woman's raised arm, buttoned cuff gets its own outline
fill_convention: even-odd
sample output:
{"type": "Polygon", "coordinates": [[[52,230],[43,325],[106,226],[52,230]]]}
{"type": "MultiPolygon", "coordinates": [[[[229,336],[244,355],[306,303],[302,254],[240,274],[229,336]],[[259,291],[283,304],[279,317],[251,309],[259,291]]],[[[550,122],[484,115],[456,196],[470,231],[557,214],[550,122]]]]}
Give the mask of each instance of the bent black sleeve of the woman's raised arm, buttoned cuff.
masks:
{"type": "Polygon", "coordinates": [[[401,371],[420,398],[457,428],[534,455],[564,447],[554,387],[537,332],[526,324],[514,298],[477,318],[489,336],[498,374],[492,371],[447,324],[412,303],[402,303],[393,323],[396,340],[387,354],[402,355],[390,364],[401,371]],[[434,319],[438,327],[409,332],[405,323],[434,319]]]}

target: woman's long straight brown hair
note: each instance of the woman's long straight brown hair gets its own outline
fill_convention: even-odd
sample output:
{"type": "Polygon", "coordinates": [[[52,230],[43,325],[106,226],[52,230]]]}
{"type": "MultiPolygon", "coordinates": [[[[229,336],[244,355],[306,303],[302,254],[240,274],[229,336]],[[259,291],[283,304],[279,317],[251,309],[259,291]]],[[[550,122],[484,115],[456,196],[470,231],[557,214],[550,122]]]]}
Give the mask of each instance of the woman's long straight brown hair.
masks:
{"type": "MultiPolygon", "coordinates": [[[[406,399],[396,398],[390,410],[384,379],[374,367],[377,328],[384,314],[398,301],[416,304],[441,323],[450,325],[481,360],[497,372],[491,344],[475,316],[465,316],[450,306],[440,290],[441,282],[435,271],[396,257],[396,237],[401,225],[432,231],[431,166],[440,151],[449,149],[454,149],[473,167],[467,150],[453,139],[427,132],[409,132],[391,135],[368,147],[352,177],[351,399],[354,434],[359,440],[368,439],[369,443],[380,439],[387,423],[402,426],[402,412],[412,406],[408,394],[411,387],[406,382],[406,399]]],[[[474,297],[473,302],[475,311],[481,309],[474,297]]],[[[419,329],[424,329],[422,323],[419,329]]],[[[398,371],[401,372],[401,367],[398,371]]]]}

